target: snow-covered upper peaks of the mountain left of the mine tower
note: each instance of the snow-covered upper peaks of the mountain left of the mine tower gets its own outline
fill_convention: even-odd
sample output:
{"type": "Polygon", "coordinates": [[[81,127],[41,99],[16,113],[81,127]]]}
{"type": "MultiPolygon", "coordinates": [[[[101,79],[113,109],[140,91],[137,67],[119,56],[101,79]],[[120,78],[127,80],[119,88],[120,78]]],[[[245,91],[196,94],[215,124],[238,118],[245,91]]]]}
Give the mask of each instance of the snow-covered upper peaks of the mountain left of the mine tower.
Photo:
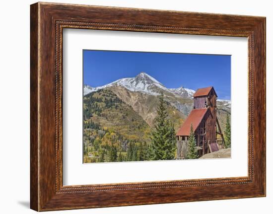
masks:
{"type": "Polygon", "coordinates": [[[168,92],[183,98],[192,98],[193,94],[195,93],[194,90],[184,88],[183,86],[180,88],[166,88],[152,76],[145,72],[141,72],[135,77],[118,79],[114,82],[99,87],[85,85],[83,88],[83,94],[86,95],[93,91],[112,86],[122,86],[130,91],[138,91],[150,95],[159,95],[161,92],[168,92]]]}

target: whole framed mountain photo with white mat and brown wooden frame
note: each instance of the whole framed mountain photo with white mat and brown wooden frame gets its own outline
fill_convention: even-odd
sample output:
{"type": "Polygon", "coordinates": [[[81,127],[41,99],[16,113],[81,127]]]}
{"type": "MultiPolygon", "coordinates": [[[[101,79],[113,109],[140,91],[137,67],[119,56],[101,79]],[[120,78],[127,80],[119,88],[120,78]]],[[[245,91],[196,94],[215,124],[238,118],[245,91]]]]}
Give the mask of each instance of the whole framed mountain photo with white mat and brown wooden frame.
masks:
{"type": "Polygon", "coordinates": [[[30,21],[31,209],[266,195],[265,17],[39,2],[30,21]]]}

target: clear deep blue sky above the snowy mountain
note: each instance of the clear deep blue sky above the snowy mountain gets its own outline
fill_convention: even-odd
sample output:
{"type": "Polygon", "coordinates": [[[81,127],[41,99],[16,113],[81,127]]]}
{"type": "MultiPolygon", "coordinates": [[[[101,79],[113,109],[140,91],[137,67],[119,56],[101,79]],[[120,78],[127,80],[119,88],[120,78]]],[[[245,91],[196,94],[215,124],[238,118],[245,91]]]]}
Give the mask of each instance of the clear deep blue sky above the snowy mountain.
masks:
{"type": "Polygon", "coordinates": [[[219,99],[230,99],[230,55],[83,50],[83,83],[105,85],[140,72],[167,88],[213,86],[219,99]]]}

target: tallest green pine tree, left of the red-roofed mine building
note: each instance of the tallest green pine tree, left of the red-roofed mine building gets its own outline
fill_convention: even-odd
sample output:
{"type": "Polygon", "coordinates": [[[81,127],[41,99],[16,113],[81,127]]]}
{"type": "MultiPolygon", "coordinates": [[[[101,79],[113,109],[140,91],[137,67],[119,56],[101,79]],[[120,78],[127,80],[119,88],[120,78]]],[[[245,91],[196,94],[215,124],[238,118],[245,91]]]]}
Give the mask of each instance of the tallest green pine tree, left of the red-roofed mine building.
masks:
{"type": "Polygon", "coordinates": [[[155,118],[156,125],[151,133],[153,160],[174,159],[174,151],[176,149],[175,132],[167,117],[166,103],[163,99],[163,94],[161,94],[157,108],[157,117],[155,118]]]}

